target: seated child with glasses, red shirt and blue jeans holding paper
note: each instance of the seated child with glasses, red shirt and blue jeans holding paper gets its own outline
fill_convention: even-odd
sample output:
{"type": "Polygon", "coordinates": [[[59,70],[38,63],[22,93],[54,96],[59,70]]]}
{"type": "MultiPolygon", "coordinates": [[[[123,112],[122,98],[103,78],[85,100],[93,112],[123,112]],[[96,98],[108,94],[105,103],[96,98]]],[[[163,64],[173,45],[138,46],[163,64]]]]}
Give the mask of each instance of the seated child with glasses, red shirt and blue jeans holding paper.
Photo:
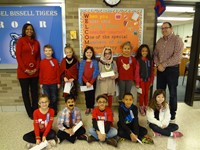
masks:
{"type": "Polygon", "coordinates": [[[108,98],[105,95],[99,95],[96,98],[97,107],[92,112],[92,124],[88,137],[88,143],[93,141],[106,141],[107,144],[117,147],[117,129],[112,126],[113,112],[110,107],[106,107],[108,98]]]}

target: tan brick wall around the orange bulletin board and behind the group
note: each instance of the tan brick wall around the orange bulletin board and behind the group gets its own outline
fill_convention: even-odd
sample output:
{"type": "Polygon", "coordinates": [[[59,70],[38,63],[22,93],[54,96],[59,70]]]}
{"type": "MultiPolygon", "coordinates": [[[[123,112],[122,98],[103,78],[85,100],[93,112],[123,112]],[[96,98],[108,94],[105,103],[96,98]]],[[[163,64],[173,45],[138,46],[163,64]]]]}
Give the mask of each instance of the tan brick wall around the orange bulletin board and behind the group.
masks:
{"type": "MultiPolygon", "coordinates": [[[[144,34],[143,42],[153,48],[154,40],[154,11],[155,0],[122,0],[116,8],[144,8],[144,34]]],[[[103,0],[66,0],[66,41],[70,43],[79,55],[79,38],[71,40],[69,31],[76,30],[78,33],[78,8],[110,8],[103,0]]],[[[59,102],[61,102],[61,94],[59,102]]],[[[77,101],[78,103],[83,102],[77,101]]],[[[16,76],[16,70],[0,70],[0,106],[23,105],[21,88],[16,76]]],[[[10,107],[9,107],[10,108],[10,107]]],[[[0,107],[0,111],[2,108],[0,107]]]]}

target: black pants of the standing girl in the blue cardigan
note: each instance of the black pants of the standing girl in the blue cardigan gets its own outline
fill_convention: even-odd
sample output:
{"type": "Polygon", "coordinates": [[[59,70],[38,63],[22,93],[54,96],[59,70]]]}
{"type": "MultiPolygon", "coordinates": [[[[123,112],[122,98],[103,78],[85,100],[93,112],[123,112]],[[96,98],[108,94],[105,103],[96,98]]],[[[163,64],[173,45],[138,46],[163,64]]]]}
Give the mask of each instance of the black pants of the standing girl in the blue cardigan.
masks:
{"type": "Polygon", "coordinates": [[[93,90],[86,91],[85,93],[85,101],[86,101],[86,107],[87,108],[94,108],[94,102],[95,102],[95,89],[96,89],[96,82],[93,84],[93,90]]]}

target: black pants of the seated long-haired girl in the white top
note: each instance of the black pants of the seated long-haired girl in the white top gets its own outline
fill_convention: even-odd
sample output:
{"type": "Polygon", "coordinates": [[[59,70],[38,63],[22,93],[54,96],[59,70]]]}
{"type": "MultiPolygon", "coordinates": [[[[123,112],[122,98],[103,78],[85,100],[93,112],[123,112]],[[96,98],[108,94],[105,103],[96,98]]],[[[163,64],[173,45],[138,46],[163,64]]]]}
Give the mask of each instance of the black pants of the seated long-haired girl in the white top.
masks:
{"type": "Polygon", "coordinates": [[[166,128],[161,128],[155,124],[150,123],[149,127],[157,133],[160,133],[165,136],[170,136],[171,132],[178,130],[178,125],[174,123],[170,123],[166,128]]]}

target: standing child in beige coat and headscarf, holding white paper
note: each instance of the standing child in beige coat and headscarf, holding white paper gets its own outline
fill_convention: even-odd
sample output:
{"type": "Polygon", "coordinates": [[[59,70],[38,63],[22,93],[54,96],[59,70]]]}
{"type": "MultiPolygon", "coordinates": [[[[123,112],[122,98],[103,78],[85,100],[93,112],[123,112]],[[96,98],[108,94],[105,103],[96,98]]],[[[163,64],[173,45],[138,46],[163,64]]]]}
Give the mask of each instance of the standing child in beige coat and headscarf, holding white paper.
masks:
{"type": "Polygon", "coordinates": [[[112,99],[115,94],[115,79],[118,78],[117,65],[113,60],[113,52],[110,47],[105,47],[99,61],[99,72],[97,80],[96,94],[106,94],[108,97],[108,106],[112,107],[112,99]],[[113,71],[112,76],[102,77],[101,73],[113,71]]]}

